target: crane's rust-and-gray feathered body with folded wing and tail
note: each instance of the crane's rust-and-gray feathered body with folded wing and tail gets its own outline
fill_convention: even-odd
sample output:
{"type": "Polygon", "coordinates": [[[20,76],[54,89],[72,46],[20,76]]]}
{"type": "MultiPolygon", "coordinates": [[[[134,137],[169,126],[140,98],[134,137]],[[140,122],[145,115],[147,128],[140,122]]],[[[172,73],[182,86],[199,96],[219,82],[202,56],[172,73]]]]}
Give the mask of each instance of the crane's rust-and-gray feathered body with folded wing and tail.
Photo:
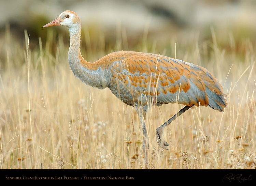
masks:
{"type": "Polygon", "coordinates": [[[209,105],[219,111],[227,105],[216,78],[207,69],[192,63],[156,54],[122,51],[110,53],[87,68],[93,70],[97,66],[111,73],[109,88],[128,105],[134,106],[141,95],[147,100],[157,95],[157,105],[209,105]],[[126,90],[124,95],[120,95],[121,89],[126,90]]]}

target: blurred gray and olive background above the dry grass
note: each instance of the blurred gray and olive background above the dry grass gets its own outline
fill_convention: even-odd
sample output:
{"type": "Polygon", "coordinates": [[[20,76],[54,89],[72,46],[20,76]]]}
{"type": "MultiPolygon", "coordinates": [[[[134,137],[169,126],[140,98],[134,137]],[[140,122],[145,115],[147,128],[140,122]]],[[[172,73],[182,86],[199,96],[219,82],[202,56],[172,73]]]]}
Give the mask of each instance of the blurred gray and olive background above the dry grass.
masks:
{"type": "MultiPolygon", "coordinates": [[[[37,46],[38,37],[44,43],[47,29],[42,27],[65,10],[79,15],[92,39],[104,33],[105,42],[113,43],[121,30],[130,46],[145,34],[148,41],[159,43],[186,40],[191,33],[199,33],[198,40],[207,40],[214,28],[225,43],[226,33],[232,33],[235,41],[253,40],[256,30],[255,0],[1,0],[0,4],[0,37],[8,26],[13,37],[24,41],[26,29],[34,43],[30,47],[37,46]]],[[[62,32],[68,34],[65,29],[62,32]]]]}

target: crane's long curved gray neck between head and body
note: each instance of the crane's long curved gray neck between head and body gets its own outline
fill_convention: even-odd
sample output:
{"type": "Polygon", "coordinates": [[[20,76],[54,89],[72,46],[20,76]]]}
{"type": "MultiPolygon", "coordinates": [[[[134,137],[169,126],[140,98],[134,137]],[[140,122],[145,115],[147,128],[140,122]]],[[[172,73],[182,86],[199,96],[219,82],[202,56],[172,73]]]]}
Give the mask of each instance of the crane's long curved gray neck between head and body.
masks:
{"type": "Polygon", "coordinates": [[[107,72],[103,71],[100,66],[97,69],[93,69],[91,67],[92,63],[84,60],[80,53],[81,26],[77,25],[77,27],[69,28],[69,32],[70,47],[68,61],[75,77],[92,87],[99,89],[108,87],[107,72]]]}

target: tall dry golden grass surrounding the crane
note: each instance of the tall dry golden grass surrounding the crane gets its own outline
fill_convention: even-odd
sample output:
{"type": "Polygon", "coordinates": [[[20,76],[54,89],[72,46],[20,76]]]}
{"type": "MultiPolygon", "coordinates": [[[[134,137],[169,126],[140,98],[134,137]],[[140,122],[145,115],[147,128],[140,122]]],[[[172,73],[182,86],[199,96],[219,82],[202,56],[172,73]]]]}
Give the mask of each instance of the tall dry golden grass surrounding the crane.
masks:
{"type": "MultiPolygon", "coordinates": [[[[88,61],[124,49],[122,38],[111,47],[101,35],[92,46],[84,33],[81,49],[88,61]]],[[[225,112],[190,109],[170,124],[165,130],[169,150],[157,145],[155,129],[181,106],[152,107],[146,119],[151,169],[256,168],[255,43],[228,35],[224,48],[213,30],[212,36],[201,42],[192,34],[189,41],[130,48],[170,56],[165,51],[171,46],[173,54],[177,43],[177,58],[208,68],[228,99],[225,112]]],[[[39,41],[38,48],[27,50],[28,38],[20,44],[8,29],[0,38],[1,169],[143,169],[142,131],[134,108],[110,90],[76,79],[62,36],[48,29],[45,46],[39,41]]]]}

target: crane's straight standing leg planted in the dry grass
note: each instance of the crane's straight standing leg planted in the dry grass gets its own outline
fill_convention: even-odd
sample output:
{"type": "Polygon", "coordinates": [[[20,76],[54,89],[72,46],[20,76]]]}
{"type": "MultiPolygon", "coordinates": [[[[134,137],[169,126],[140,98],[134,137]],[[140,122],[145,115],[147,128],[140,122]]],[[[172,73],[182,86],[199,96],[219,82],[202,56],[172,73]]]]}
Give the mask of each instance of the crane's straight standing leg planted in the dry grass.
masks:
{"type": "MultiPolygon", "coordinates": [[[[135,107],[136,108],[136,107],[135,107]]],[[[142,125],[142,133],[143,133],[143,142],[142,142],[142,151],[143,151],[143,156],[144,156],[144,163],[145,163],[145,169],[147,169],[148,164],[147,164],[147,151],[149,149],[149,143],[148,143],[148,136],[147,136],[147,128],[145,124],[145,118],[146,118],[146,109],[142,108],[136,108],[136,111],[140,117],[140,122],[142,125]]]]}

